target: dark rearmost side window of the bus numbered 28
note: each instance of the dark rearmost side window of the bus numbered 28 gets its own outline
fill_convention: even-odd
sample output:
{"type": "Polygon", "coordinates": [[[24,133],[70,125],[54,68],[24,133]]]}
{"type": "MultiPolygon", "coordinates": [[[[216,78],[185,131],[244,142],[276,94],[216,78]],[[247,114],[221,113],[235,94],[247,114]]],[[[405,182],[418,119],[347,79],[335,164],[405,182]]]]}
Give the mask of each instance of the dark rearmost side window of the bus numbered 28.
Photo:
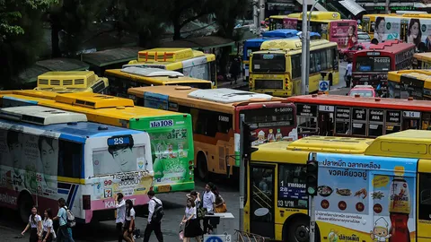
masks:
{"type": "Polygon", "coordinates": [[[81,178],[83,144],[66,140],[58,141],[58,177],[81,178]]]}

